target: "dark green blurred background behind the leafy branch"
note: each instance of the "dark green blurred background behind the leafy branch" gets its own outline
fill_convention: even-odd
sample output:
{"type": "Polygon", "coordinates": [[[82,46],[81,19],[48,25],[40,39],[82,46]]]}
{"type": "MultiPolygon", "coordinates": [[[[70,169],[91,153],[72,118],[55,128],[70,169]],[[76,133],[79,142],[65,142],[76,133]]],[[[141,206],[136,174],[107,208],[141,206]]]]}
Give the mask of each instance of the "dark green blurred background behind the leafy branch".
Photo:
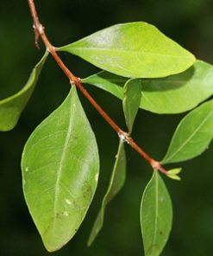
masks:
{"type": "MultiPolygon", "coordinates": [[[[201,59],[213,63],[213,1],[208,0],[47,0],[35,1],[41,23],[54,46],[68,43],[122,22],[149,22],[201,59]]],[[[0,99],[19,91],[45,48],[34,47],[27,0],[0,1],[0,99]]],[[[60,53],[72,73],[85,78],[99,70],[72,54],[60,53]]],[[[85,86],[122,129],[127,130],[122,101],[110,93],[85,86]]],[[[22,148],[34,128],[65,99],[66,76],[49,56],[28,106],[13,131],[0,133],[0,254],[48,255],[22,195],[22,148]]],[[[78,233],[54,255],[143,255],[139,208],[152,169],[126,145],[127,181],[106,210],[103,229],[91,248],[86,246],[92,223],[108,187],[118,145],[110,128],[78,93],[97,136],[101,158],[100,182],[94,202],[78,233]]],[[[132,137],[151,157],[161,160],[183,114],[157,115],[140,110],[132,137]]],[[[163,176],[172,197],[173,225],[164,256],[213,255],[213,149],[185,163],[181,182],[163,176]]]]}

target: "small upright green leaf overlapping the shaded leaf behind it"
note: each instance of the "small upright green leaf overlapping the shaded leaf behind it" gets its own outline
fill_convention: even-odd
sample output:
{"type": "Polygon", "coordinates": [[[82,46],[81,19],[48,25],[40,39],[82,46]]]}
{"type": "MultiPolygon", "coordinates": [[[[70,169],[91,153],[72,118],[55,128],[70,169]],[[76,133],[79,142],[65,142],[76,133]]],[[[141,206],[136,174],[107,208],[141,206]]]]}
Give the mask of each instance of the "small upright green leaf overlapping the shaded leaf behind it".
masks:
{"type": "Polygon", "coordinates": [[[123,94],[125,98],[122,101],[122,107],[128,126],[128,134],[131,134],[141,102],[141,80],[128,80],[123,87],[123,94]]]}

